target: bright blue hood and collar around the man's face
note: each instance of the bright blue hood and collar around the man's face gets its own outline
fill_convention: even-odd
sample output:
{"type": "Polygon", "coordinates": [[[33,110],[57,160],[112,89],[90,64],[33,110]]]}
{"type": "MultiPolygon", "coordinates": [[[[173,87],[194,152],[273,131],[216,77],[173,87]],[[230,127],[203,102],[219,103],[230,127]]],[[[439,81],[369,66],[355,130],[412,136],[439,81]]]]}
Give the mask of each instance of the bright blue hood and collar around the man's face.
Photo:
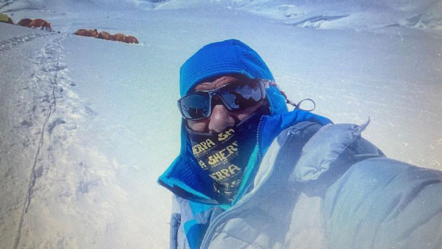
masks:
{"type": "MultiPolygon", "coordinates": [[[[202,47],[184,62],[180,70],[180,95],[189,93],[203,79],[226,74],[242,74],[249,78],[274,80],[270,69],[258,53],[239,40],[227,40],[202,47]]],[[[265,134],[258,143],[261,153],[265,153],[273,139],[290,125],[306,120],[314,120],[321,124],[329,123],[328,119],[309,112],[301,110],[288,112],[284,96],[274,86],[266,89],[266,98],[271,114],[265,116],[260,125],[260,129],[265,134]]],[[[182,120],[180,154],[160,176],[158,183],[182,198],[219,204],[214,200],[213,180],[199,169],[187,138],[185,121],[182,120]]]]}

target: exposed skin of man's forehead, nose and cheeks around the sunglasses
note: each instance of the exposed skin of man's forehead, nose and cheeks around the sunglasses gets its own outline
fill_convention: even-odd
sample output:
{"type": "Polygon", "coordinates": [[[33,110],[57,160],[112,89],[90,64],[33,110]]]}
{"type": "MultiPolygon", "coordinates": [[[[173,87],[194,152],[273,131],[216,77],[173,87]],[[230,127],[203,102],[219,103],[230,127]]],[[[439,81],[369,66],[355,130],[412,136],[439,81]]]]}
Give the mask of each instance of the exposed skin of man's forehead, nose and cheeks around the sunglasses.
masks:
{"type": "MultiPolygon", "coordinates": [[[[213,81],[204,81],[198,84],[193,92],[215,90],[220,87],[232,84],[234,82],[241,81],[240,76],[220,76],[213,81]]],[[[235,111],[229,111],[222,103],[222,101],[216,101],[216,104],[212,107],[212,113],[208,118],[200,120],[188,120],[187,125],[190,129],[198,132],[222,132],[229,126],[235,126],[237,123],[248,118],[253,114],[265,100],[258,102],[256,105],[239,109],[235,111]]]]}

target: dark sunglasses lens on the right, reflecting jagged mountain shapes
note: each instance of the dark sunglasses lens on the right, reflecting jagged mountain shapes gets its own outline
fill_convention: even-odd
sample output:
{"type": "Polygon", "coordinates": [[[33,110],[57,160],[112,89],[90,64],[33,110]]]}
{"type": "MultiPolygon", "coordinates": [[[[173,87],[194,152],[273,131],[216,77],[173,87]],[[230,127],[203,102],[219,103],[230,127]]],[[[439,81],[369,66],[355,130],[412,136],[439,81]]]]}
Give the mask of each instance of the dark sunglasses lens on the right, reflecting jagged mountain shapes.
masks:
{"type": "Polygon", "coordinates": [[[256,105],[264,96],[256,82],[231,84],[220,93],[223,100],[232,109],[248,108],[256,105]]]}

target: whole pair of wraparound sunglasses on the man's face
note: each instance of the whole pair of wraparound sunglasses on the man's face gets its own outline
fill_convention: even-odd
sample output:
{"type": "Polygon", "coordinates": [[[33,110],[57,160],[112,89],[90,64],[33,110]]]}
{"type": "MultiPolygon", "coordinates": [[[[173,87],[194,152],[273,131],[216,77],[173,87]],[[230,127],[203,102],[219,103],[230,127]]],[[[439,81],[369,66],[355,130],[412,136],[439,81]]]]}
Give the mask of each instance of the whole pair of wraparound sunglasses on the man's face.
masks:
{"type": "Polygon", "coordinates": [[[216,100],[222,101],[229,111],[246,109],[265,99],[269,84],[268,79],[247,79],[215,90],[194,92],[180,98],[178,108],[186,120],[210,117],[216,100]]]}

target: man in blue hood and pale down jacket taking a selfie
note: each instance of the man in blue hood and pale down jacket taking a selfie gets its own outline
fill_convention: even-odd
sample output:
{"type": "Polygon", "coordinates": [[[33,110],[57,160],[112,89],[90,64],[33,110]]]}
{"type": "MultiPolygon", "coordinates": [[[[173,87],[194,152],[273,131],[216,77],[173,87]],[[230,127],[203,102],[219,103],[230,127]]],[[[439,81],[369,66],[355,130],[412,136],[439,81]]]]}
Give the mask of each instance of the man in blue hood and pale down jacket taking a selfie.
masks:
{"type": "Polygon", "coordinates": [[[367,127],[288,111],[238,40],[180,70],[171,248],[441,248],[442,175],[386,157],[367,127]]]}

